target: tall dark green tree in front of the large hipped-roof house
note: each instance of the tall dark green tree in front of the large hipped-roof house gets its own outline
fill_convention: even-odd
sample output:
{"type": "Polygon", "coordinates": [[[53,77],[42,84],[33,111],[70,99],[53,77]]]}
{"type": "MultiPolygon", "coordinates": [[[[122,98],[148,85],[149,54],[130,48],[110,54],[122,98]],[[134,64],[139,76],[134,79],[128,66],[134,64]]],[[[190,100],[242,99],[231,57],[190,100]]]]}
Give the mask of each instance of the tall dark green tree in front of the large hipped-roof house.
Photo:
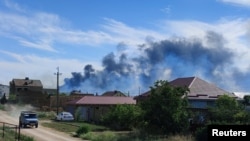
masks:
{"type": "Polygon", "coordinates": [[[149,134],[175,134],[188,126],[187,87],[175,87],[158,80],[151,87],[149,97],[141,102],[143,120],[141,129],[149,134]]]}

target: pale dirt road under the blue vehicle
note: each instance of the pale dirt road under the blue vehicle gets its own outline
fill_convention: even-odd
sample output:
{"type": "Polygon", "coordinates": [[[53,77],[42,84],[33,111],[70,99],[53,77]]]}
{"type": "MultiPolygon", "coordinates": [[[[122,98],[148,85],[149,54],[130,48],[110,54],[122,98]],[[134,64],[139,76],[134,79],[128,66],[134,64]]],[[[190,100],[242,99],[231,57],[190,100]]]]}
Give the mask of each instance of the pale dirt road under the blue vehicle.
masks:
{"type": "MultiPolygon", "coordinates": [[[[0,110],[0,121],[18,125],[18,114],[0,110]]],[[[33,137],[35,141],[83,141],[80,138],[71,137],[69,134],[43,127],[41,124],[38,128],[22,128],[21,134],[33,137]]]]}

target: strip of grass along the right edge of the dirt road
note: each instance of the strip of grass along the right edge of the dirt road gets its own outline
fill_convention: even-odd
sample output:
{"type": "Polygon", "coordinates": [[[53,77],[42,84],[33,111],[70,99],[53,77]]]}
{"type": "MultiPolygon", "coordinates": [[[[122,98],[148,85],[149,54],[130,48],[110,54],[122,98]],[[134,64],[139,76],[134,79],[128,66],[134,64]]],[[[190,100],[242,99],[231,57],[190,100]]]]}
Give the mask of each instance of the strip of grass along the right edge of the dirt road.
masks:
{"type": "Polygon", "coordinates": [[[141,135],[138,131],[125,131],[125,132],[116,132],[111,131],[105,126],[90,124],[86,122],[61,122],[55,121],[54,113],[38,113],[40,124],[42,126],[52,128],[54,130],[68,133],[72,136],[79,137],[83,140],[89,141],[195,141],[194,137],[191,135],[174,135],[169,136],[168,138],[160,137],[148,137],[146,135],[141,135]],[[82,127],[87,126],[90,131],[85,134],[77,135],[77,130],[82,127]]]}

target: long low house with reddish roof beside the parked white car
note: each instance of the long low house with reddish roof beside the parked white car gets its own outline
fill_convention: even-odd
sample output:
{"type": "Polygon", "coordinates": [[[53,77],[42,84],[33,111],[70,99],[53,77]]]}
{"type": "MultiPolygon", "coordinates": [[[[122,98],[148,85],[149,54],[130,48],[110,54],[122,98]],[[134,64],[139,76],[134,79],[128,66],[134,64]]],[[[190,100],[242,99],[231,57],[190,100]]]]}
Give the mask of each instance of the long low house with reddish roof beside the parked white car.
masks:
{"type": "Polygon", "coordinates": [[[136,101],[123,96],[84,96],[68,102],[66,110],[74,114],[80,109],[81,120],[98,122],[111,106],[117,104],[136,104],[136,101]]]}

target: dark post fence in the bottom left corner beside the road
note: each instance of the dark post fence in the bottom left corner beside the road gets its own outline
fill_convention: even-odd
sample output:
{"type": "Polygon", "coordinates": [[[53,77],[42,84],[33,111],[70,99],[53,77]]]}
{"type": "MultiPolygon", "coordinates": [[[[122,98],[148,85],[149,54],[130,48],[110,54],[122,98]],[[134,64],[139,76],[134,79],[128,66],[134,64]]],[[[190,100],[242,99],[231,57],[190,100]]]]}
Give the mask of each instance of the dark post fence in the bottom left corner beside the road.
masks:
{"type": "Polygon", "coordinates": [[[0,122],[0,140],[20,141],[19,126],[11,123],[0,122]]]}

